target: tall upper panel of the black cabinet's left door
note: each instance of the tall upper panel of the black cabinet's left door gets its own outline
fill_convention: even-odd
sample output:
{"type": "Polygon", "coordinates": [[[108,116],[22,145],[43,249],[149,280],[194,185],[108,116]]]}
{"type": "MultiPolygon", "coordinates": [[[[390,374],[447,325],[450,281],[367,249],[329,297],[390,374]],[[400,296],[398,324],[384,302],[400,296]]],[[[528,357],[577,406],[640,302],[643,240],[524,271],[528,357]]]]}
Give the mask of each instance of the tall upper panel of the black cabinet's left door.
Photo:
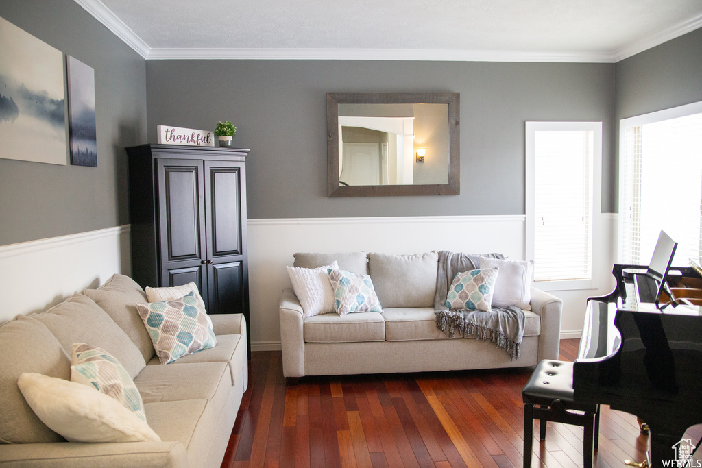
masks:
{"type": "Polygon", "coordinates": [[[204,209],[200,161],[159,159],[159,218],[164,263],[204,255],[204,209]]]}

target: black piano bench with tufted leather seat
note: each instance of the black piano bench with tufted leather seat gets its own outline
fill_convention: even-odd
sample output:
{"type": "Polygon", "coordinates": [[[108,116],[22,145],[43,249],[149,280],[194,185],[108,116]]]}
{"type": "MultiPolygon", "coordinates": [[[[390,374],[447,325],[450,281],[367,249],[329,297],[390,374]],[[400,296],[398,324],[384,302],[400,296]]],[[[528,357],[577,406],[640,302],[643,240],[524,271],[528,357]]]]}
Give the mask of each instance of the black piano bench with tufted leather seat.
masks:
{"type": "Polygon", "coordinates": [[[600,405],[573,399],[573,363],[545,359],[538,363],[522,390],[524,401],[524,468],[531,468],[534,418],[541,420],[539,439],[546,439],[546,422],[583,426],[584,467],[592,468],[600,432],[600,405]],[[582,411],[583,414],[573,413],[582,411]]]}

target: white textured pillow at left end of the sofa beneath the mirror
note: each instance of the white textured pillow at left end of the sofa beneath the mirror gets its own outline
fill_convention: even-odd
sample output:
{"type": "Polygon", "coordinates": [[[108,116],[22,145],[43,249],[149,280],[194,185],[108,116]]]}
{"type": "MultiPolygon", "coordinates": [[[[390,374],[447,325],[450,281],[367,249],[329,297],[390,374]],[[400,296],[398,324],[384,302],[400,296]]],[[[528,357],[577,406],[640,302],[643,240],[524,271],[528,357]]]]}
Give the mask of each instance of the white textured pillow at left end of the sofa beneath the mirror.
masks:
{"type": "Polygon", "coordinates": [[[303,319],[319,314],[336,312],[334,290],[327,269],[338,269],[336,261],[318,268],[285,267],[293,283],[295,295],[303,306],[303,319]]]}

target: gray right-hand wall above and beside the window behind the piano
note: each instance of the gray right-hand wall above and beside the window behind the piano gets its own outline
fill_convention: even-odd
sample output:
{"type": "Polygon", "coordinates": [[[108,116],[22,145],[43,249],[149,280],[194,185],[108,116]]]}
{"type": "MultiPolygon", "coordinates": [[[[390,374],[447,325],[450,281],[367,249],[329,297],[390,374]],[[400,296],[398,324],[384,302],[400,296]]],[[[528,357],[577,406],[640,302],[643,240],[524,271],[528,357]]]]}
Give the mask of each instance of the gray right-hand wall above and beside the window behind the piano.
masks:
{"type": "MultiPolygon", "coordinates": [[[[618,190],[619,119],[702,100],[702,29],[617,62],[613,187],[618,190]]],[[[612,211],[617,211],[617,199],[612,211]]]]}

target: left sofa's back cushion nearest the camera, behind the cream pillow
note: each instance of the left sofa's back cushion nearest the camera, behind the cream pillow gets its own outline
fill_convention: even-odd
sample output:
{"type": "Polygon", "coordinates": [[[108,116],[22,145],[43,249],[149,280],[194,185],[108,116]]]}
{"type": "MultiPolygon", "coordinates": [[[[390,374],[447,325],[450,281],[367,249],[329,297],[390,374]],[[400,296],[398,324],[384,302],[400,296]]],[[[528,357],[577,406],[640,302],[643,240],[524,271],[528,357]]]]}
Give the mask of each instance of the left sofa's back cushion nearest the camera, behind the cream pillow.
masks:
{"type": "Polygon", "coordinates": [[[63,437],[39,420],[22,396],[22,373],[71,378],[71,361],[54,335],[41,322],[17,316],[0,326],[0,441],[4,443],[62,442],[63,437]]]}

